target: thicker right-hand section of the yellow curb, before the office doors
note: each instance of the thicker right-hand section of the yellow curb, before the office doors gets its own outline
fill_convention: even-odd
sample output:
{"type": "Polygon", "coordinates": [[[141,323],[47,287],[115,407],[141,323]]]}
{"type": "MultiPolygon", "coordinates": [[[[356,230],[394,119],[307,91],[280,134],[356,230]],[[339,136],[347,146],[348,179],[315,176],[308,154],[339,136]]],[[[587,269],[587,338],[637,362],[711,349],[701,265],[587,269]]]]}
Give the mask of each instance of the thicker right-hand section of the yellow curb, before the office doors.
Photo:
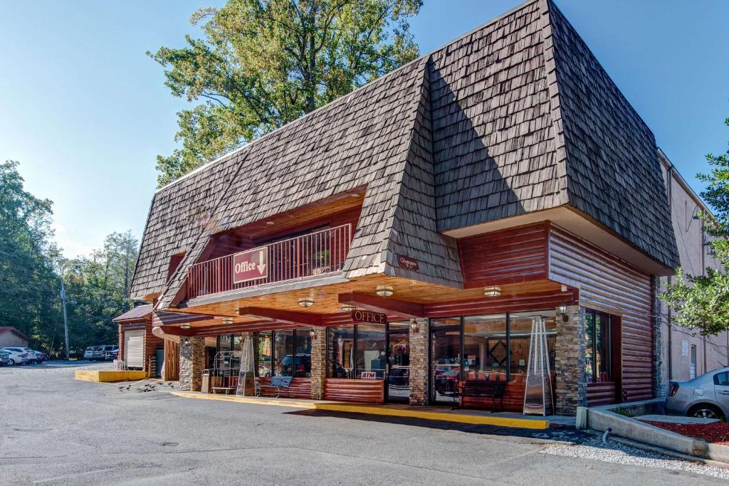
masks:
{"type": "Polygon", "coordinates": [[[427,412],[415,408],[399,409],[377,405],[350,405],[350,404],[316,404],[316,409],[331,410],[335,412],[364,413],[367,415],[386,415],[390,417],[421,418],[424,420],[440,420],[445,422],[471,423],[475,425],[488,425],[515,428],[536,428],[543,430],[549,428],[549,420],[534,420],[529,418],[489,417],[488,415],[469,415],[462,413],[427,412]]]}

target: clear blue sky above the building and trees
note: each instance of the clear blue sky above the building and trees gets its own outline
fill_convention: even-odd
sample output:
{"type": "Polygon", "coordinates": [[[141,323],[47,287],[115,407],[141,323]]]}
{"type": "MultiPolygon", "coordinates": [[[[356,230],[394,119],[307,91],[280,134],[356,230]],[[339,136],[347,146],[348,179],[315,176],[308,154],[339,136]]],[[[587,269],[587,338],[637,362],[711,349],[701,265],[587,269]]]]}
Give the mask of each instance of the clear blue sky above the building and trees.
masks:
{"type": "MultiPolygon", "coordinates": [[[[43,1],[0,5],[0,160],[54,202],[67,256],[112,231],[144,230],[155,156],[175,146],[160,66],[144,52],[195,34],[190,14],[216,1],[43,1]]],[[[520,4],[425,0],[411,28],[428,52],[520,4]]],[[[698,192],[703,155],[729,128],[725,0],[556,0],[698,192]]]]}

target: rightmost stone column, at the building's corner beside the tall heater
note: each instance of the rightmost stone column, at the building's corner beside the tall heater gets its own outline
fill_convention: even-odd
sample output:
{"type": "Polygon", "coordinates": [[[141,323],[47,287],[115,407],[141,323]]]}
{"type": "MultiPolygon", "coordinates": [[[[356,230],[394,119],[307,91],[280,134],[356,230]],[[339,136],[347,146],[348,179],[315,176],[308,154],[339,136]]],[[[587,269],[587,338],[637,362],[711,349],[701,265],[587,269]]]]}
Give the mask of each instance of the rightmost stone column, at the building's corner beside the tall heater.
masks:
{"type": "Polygon", "coordinates": [[[584,307],[572,305],[567,312],[557,310],[555,340],[555,408],[561,415],[574,415],[587,404],[585,382],[584,307]]]}

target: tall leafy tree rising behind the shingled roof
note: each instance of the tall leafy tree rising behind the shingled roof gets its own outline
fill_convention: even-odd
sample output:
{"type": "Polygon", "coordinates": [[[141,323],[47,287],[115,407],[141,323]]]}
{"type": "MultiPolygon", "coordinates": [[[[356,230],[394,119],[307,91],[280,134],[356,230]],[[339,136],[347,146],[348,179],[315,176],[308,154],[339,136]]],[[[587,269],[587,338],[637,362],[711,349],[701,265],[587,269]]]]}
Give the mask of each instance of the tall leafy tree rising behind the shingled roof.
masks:
{"type": "Polygon", "coordinates": [[[417,58],[421,0],[230,0],[190,18],[203,36],[152,54],[187,101],[161,185],[417,58]]]}

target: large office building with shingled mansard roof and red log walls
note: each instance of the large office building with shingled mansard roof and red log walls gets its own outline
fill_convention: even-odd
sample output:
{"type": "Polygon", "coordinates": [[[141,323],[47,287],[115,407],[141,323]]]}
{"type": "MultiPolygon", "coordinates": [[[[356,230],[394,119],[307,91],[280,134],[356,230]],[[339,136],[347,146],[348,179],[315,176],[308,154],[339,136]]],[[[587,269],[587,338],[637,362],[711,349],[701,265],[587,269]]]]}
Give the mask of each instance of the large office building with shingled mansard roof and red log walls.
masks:
{"type": "Polygon", "coordinates": [[[193,390],[252,337],[292,396],[451,405],[504,381],[514,410],[541,318],[574,413],[660,393],[667,202],[650,128],[528,1],[158,190],[131,297],[193,390]]]}

